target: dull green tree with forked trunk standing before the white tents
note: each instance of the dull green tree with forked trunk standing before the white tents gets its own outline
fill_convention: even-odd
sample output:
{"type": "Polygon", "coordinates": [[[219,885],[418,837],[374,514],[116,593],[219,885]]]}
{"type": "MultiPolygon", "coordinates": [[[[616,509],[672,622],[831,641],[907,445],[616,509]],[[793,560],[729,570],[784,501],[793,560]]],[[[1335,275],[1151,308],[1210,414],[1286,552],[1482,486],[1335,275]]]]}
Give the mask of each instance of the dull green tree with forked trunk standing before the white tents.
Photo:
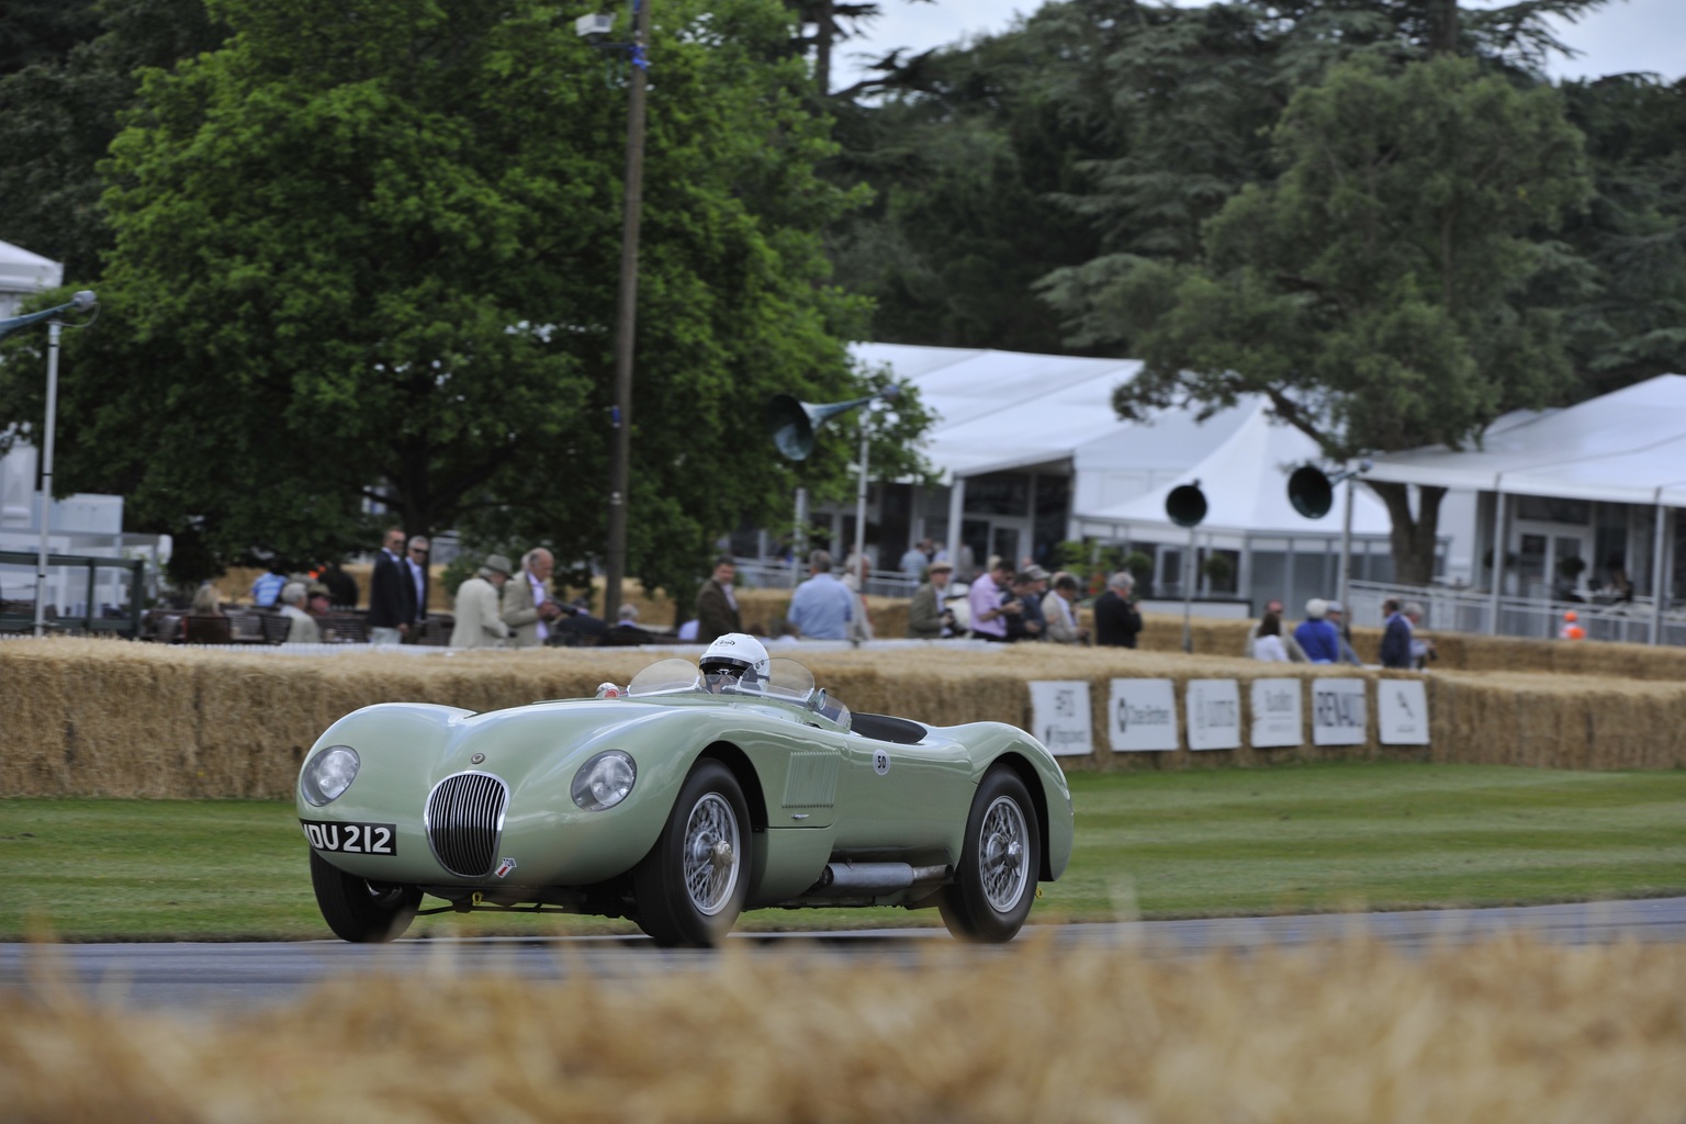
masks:
{"type": "MultiPolygon", "coordinates": [[[[1079,342],[1128,339],[1125,416],[1261,394],[1329,457],[1474,440],[1571,384],[1561,313],[1529,302],[1558,268],[1536,241],[1590,194],[1580,133],[1549,88],[1453,56],[1359,57],[1295,94],[1281,175],[1207,224],[1204,260],[1113,254],[1055,273],[1079,342]]],[[[1431,576],[1442,489],[1393,516],[1401,581],[1431,576]]]]}

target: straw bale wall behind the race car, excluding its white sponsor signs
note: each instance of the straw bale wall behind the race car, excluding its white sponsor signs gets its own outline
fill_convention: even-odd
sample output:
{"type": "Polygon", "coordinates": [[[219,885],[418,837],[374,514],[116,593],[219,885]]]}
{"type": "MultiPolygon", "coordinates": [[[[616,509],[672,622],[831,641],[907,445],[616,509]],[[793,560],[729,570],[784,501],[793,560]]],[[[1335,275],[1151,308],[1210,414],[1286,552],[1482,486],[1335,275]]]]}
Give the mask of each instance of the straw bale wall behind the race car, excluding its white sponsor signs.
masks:
{"type": "MultiPolygon", "coordinates": [[[[821,686],[853,709],[932,725],[1030,726],[1034,679],[1089,684],[1093,757],[1067,768],[1258,767],[1305,760],[1435,760],[1551,768],[1686,767],[1686,686],[1522,672],[1423,676],[1431,745],[1379,740],[1376,689],[1362,745],[1251,748],[1248,684],[1258,677],[1366,681],[1411,672],[1339,671],[1244,659],[1001,645],[944,650],[803,652],[821,686]],[[1113,753],[1109,681],[1236,679],[1243,748],[1113,753]]],[[[0,644],[0,795],[285,797],[303,753],[336,718],[379,701],[427,701],[475,711],[590,694],[626,682],[656,656],[637,649],[541,649],[411,656],[366,650],[277,656],[118,640],[0,644]]],[[[1179,726],[1184,723],[1179,721],[1179,726]]]]}

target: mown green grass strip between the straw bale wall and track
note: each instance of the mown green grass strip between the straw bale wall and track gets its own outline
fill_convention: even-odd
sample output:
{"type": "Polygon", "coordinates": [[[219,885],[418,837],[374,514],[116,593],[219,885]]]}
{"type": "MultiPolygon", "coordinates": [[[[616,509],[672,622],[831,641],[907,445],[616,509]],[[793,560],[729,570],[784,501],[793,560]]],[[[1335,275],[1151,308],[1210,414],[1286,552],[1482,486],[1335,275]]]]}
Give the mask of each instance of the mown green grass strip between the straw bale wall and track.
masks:
{"type": "MultiPolygon", "coordinates": [[[[1072,777],[1077,849],[1034,918],[1216,917],[1686,893],[1686,772],[1344,763],[1072,777]]],[[[292,804],[0,800],[0,939],[327,935],[292,804]]],[[[432,898],[430,905],[437,905],[432,898]]],[[[740,929],[937,923],[764,910],[740,929]]],[[[634,932],[433,917],[411,934],[634,932]]]]}

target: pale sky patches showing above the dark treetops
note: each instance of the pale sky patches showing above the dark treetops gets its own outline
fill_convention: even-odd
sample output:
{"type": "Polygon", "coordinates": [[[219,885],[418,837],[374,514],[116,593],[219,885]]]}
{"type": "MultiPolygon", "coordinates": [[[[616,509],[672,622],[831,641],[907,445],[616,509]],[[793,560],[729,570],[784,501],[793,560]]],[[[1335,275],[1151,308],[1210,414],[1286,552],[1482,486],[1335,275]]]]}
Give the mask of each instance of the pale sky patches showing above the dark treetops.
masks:
{"type": "MultiPolygon", "coordinates": [[[[1015,13],[1028,15],[1040,7],[1039,0],[882,0],[882,5],[883,15],[868,35],[843,44],[836,86],[856,81],[865,74],[863,64],[895,47],[917,54],[1003,32],[1015,13]]],[[[1553,78],[1624,71],[1654,71],[1667,81],[1686,76],[1686,0],[1610,0],[1578,24],[1565,25],[1558,37],[1583,54],[1554,57],[1548,67],[1553,78]]]]}

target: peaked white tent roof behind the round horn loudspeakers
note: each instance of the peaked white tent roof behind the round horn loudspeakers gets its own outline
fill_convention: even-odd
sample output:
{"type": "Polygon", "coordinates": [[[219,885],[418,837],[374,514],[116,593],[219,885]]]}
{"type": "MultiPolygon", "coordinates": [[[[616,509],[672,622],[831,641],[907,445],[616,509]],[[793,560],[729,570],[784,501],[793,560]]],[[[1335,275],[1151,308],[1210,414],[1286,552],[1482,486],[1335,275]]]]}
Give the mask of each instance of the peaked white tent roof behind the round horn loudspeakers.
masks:
{"type": "MultiPolygon", "coordinates": [[[[1273,425],[1263,399],[1248,403],[1238,413],[1243,421],[1229,440],[1175,482],[1125,504],[1077,512],[1076,517],[1128,527],[1131,539],[1180,543],[1189,538],[1189,529],[1165,516],[1165,497],[1173,487],[1199,480],[1207,504],[1205,519],[1197,527],[1202,538],[1339,536],[1344,521],[1339,495],[1322,519],[1307,519],[1288,502],[1288,474],[1320,460],[1317,442],[1291,426],[1273,425]]],[[[1352,502],[1352,534],[1386,536],[1391,526],[1383,502],[1359,489],[1352,502]]]]}

